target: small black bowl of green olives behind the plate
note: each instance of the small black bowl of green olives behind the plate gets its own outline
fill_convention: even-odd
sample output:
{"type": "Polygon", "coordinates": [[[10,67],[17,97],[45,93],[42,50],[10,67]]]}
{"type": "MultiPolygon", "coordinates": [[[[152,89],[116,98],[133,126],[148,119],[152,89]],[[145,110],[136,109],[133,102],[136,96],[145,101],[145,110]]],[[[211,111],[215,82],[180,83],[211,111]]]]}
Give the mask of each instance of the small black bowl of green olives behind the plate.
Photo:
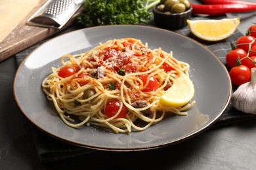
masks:
{"type": "Polygon", "coordinates": [[[153,8],[156,25],[167,29],[179,29],[187,25],[192,6],[188,0],[161,0],[153,8]]]}

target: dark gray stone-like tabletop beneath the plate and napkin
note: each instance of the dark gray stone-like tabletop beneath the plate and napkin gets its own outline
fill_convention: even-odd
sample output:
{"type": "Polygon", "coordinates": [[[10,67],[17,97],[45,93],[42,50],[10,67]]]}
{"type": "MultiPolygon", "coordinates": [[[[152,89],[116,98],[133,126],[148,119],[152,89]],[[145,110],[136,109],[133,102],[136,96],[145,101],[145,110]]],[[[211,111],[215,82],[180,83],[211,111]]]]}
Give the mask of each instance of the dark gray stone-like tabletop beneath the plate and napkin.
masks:
{"type": "MultiPolygon", "coordinates": [[[[242,21],[243,22],[243,21],[242,21]]],[[[187,30],[188,31],[188,30],[187,30]]],[[[178,31],[179,32],[179,31],[178,31]]],[[[244,33],[244,32],[243,32],[244,33]]],[[[186,35],[186,33],[183,33],[186,35]]],[[[211,46],[210,46],[211,47],[211,46]]],[[[223,48],[220,46],[220,48],[223,48]]],[[[211,49],[214,52],[214,49],[211,49]]],[[[217,50],[218,51],[218,50],[217,50]]],[[[217,52],[216,51],[216,52],[217,52]]],[[[26,53],[26,52],[25,52],[26,53]]],[[[216,54],[216,53],[215,53],[216,54]]],[[[142,152],[93,152],[80,156],[42,163],[38,154],[37,137],[54,141],[37,131],[18,109],[12,83],[20,56],[0,63],[0,169],[255,169],[256,123],[253,115],[237,112],[229,107],[219,122],[207,131],[173,146],[142,152]],[[237,112],[237,114],[228,114],[237,112]],[[240,118],[239,118],[240,116],[240,118]],[[252,117],[251,117],[252,116],[252,117]],[[228,122],[227,120],[230,120],[228,122]],[[243,120],[243,121],[242,121],[243,120]],[[37,135],[37,137],[35,137],[37,135]],[[34,138],[35,137],[35,138],[34,138]],[[37,139],[36,139],[37,138],[37,139]]],[[[224,62],[224,54],[221,54],[224,62]]],[[[64,143],[68,157],[72,157],[64,143]]],[[[49,149],[49,148],[47,148],[49,149]]],[[[54,150],[51,154],[56,154],[54,150]]],[[[59,149],[59,148],[58,148],[59,149]]],[[[74,148],[70,148],[74,151],[74,148]]],[[[49,152],[48,152],[49,153],[49,152]]],[[[45,158],[57,158],[56,155],[45,158]]]]}

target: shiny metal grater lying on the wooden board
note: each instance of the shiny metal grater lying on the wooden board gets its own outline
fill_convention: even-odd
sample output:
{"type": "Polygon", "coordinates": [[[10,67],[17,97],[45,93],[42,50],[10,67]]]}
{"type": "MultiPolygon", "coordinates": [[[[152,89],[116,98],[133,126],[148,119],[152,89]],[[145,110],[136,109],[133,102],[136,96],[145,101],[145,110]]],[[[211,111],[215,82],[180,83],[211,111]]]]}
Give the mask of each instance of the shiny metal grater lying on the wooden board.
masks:
{"type": "Polygon", "coordinates": [[[33,14],[27,24],[60,29],[83,3],[83,0],[49,0],[33,14]]]}

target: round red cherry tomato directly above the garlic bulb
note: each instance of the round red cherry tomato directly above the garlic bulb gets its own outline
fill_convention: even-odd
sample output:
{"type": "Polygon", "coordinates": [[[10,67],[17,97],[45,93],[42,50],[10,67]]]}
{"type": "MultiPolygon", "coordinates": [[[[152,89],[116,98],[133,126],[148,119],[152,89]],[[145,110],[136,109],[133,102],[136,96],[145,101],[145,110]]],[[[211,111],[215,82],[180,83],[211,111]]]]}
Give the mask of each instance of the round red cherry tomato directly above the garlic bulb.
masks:
{"type": "Polygon", "coordinates": [[[251,79],[251,70],[245,65],[233,67],[229,72],[233,84],[240,86],[251,79]]]}

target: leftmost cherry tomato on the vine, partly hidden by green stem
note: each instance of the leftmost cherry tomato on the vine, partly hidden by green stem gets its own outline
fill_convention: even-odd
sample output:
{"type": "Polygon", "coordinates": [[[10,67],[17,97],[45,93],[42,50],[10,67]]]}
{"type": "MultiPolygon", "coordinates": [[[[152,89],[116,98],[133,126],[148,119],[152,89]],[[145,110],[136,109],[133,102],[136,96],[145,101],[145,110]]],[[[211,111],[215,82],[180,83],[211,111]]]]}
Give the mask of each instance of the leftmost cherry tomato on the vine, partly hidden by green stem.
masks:
{"type": "Polygon", "coordinates": [[[241,49],[241,48],[236,48],[230,52],[228,52],[228,54],[226,54],[226,64],[229,67],[235,67],[236,66],[236,59],[238,59],[238,57],[240,59],[244,58],[246,56],[246,52],[245,50],[241,49]]]}

